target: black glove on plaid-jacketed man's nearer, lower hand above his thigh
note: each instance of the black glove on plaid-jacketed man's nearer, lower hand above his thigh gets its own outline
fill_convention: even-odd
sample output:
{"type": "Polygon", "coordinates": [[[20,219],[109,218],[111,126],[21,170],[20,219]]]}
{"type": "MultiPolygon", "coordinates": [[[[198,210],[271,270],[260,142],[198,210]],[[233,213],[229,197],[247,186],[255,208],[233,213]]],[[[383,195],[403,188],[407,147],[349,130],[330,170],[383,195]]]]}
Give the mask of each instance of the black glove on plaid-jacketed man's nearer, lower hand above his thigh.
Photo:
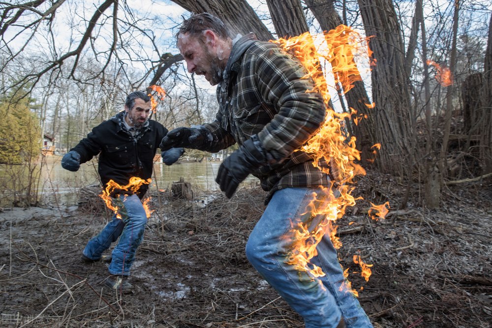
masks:
{"type": "Polygon", "coordinates": [[[225,191],[227,198],[231,198],[239,184],[248,174],[266,164],[266,154],[256,135],[227,157],[218,169],[217,182],[220,190],[225,191]]]}

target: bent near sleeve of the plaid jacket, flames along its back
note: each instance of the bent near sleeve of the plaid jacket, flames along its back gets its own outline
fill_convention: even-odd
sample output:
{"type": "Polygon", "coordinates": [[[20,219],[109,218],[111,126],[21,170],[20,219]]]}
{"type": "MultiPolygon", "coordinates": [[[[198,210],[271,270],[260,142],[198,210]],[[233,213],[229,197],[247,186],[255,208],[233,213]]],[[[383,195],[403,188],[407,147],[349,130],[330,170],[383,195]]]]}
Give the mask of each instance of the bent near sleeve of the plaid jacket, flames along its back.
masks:
{"type": "Polygon", "coordinates": [[[255,64],[258,91],[274,107],[274,118],[258,133],[269,157],[281,160],[304,145],[325,118],[321,95],[298,60],[279,48],[260,54],[255,64]]]}

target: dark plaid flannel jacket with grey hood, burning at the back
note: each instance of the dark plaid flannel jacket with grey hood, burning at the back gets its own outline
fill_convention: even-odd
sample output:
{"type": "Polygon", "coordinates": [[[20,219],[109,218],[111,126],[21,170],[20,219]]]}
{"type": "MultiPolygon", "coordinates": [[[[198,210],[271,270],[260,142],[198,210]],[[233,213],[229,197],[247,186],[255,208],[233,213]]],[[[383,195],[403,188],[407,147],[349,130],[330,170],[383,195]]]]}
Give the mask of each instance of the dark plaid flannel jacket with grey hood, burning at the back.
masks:
{"type": "MultiPolygon", "coordinates": [[[[313,89],[307,71],[275,43],[250,33],[231,50],[224,81],[217,86],[219,110],[205,124],[213,138],[209,151],[242,145],[257,134],[267,157],[273,159],[253,175],[269,191],[266,203],[279,189],[331,185],[330,178],[313,166],[313,158],[298,150],[325,119],[325,105],[313,89]]],[[[326,161],[318,163],[329,167],[326,161]]]]}

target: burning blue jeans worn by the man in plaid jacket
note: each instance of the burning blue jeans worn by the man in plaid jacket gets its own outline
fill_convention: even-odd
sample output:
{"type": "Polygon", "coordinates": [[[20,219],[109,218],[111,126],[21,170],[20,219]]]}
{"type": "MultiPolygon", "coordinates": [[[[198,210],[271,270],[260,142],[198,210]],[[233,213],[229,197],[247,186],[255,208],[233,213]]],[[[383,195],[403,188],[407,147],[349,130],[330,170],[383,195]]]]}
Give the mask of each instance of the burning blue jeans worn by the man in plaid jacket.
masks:
{"type": "Polygon", "coordinates": [[[339,291],[345,278],[329,234],[321,239],[316,247],[317,255],[310,260],[311,264],[323,270],[324,276],[313,277],[286,263],[292,255],[295,239],[292,227],[307,220],[311,225],[317,225],[324,218],[323,215],[310,215],[308,205],[313,200],[313,192],[320,199],[321,189],[286,188],[275,192],[249,236],[246,256],[263,278],[304,318],[306,328],[337,327],[342,316],[347,327],[370,328],[369,318],[357,298],[346,290],[339,291]]]}

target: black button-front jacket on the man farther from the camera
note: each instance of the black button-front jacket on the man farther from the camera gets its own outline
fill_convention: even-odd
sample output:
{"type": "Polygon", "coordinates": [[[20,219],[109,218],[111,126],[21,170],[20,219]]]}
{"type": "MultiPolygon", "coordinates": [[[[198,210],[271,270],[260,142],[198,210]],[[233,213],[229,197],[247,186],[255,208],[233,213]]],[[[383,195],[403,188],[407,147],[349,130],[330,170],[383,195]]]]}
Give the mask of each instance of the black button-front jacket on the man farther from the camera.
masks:
{"type": "MultiPolygon", "coordinates": [[[[135,136],[123,123],[124,112],[108,119],[92,129],[92,132],[70,150],[80,154],[80,162],[85,163],[99,154],[98,172],[106,187],[109,180],[126,185],[131,177],[149,179],[152,177],[154,155],[167,129],[162,124],[149,119],[135,136]]],[[[138,190],[140,199],[148,189],[143,184],[138,190]]]]}

